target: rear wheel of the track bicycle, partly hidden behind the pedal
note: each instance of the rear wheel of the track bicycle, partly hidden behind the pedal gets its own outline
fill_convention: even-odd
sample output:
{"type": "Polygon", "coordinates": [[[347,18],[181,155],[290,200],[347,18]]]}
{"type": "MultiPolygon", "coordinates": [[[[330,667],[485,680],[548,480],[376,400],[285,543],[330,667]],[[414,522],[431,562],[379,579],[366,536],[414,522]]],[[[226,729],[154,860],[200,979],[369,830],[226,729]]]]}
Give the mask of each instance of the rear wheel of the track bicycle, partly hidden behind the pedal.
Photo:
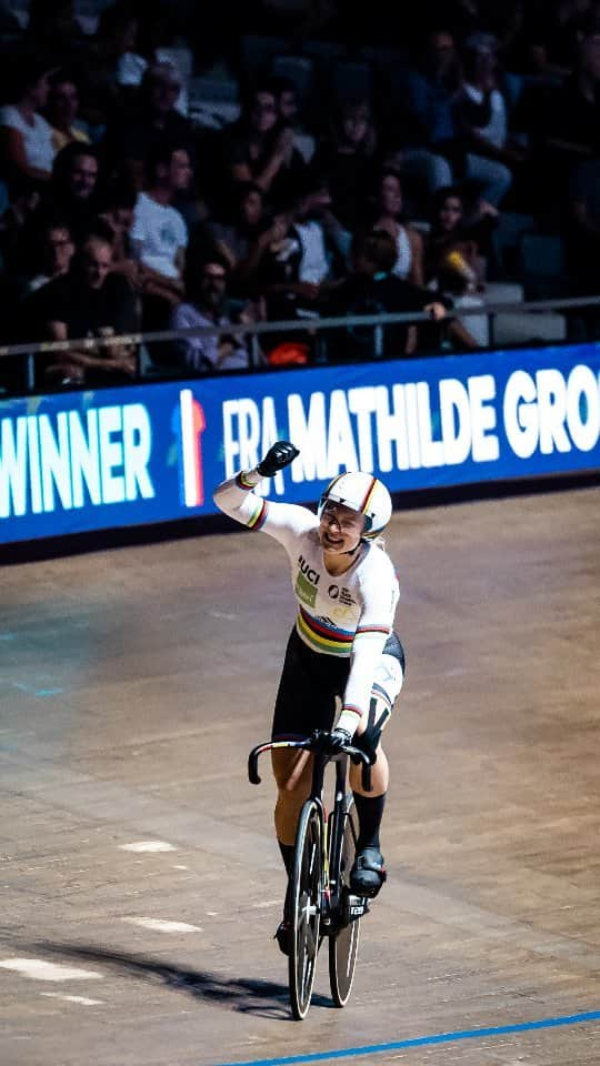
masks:
{"type": "MultiPolygon", "coordinates": [[[[358,817],[352,796],[347,796],[343,807],[342,843],[339,851],[339,871],[334,872],[338,884],[346,891],[350,887],[350,869],[354,862],[358,839],[358,817]],[[338,879],[339,878],[339,879],[338,879]]],[[[337,1007],[344,1007],[350,998],[357,968],[360,941],[360,918],[341,926],[329,937],[329,983],[337,1007]]]]}

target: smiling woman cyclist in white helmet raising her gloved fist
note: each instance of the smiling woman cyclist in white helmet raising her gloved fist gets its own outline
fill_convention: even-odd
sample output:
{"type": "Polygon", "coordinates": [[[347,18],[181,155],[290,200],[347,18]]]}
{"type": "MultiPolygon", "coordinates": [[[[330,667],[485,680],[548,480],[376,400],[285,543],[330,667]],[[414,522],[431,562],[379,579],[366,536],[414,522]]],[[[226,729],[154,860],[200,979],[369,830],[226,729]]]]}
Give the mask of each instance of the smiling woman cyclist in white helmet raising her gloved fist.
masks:
{"type": "MultiPolygon", "coordinates": [[[[352,741],[373,762],[370,793],[362,788],[359,767],[350,768],[360,828],[350,884],[357,895],[372,898],[386,879],[379,831],[389,770],[380,737],[404,673],[404,653],[392,628],[398,579],[380,541],[392,504],[386,486],[363,472],[334,477],[317,515],[253,492],[298,454],[293,444],[279,441],[254,470],[222,482],[214,503],[237,522],[273,536],[291,563],[299,610],[279,683],[272,738],[331,731],[340,697],[341,714],[329,746],[336,750],[352,741]]],[[[276,832],[288,875],[300,808],[310,788],[310,758],[306,752],[272,753],[276,832]]],[[[288,933],[284,907],[276,936],[286,954],[288,933]]]]}

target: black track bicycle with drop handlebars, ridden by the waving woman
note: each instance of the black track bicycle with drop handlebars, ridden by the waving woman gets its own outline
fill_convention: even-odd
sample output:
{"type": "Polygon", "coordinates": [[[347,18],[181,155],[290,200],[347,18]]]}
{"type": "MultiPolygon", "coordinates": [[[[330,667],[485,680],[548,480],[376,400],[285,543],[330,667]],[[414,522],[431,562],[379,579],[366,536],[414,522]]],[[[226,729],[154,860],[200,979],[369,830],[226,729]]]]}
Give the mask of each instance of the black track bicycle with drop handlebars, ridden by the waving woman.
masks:
{"type": "Polygon", "coordinates": [[[296,748],[313,756],[312,783],[298,821],[292,871],[290,874],[290,954],[288,973],[290,1004],[294,1018],[306,1018],[312,996],[317,955],[323,937],[329,939],[329,980],[337,1007],[350,997],[360,935],[360,919],[368,913],[364,896],[350,892],[350,869],[358,841],[358,818],[352,793],[347,788],[348,758],[362,764],[362,785],[371,791],[371,764],[368,755],[351,744],[328,751],[318,731],[298,741],[270,741],[250,752],[248,776],[260,784],[259,756],[264,752],[296,748]],[[326,814],[324,773],[336,763],[333,805],[326,814]]]}

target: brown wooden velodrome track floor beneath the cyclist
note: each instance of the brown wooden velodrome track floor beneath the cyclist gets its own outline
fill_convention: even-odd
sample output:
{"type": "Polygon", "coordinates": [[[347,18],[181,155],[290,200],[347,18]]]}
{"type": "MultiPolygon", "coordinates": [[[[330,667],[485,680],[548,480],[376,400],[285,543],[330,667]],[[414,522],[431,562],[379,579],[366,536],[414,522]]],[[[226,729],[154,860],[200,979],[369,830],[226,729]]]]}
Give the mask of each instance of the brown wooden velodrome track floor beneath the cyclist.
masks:
{"type": "Polygon", "coordinates": [[[246,778],[283,552],[240,531],[4,567],[2,1066],[597,1066],[599,519],[594,487],[396,515],[390,877],[350,1005],[323,957],[301,1024],[268,766],[246,778]]]}

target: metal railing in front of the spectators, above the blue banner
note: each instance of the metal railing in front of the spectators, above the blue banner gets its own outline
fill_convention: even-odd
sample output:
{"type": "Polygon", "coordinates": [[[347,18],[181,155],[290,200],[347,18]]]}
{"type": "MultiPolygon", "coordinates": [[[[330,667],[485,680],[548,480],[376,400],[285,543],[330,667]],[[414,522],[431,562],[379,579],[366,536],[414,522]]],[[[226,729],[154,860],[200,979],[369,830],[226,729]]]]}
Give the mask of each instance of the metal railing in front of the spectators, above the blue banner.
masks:
{"type": "MultiPolygon", "coordinates": [[[[436,300],[436,293],[431,294],[432,302],[436,300]]],[[[260,338],[269,334],[281,333],[310,333],[314,334],[327,330],[351,330],[357,328],[372,326],[374,350],[381,350],[381,339],[383,331],[392,325],[418,325],[420,323],[436,324],[443,328],[456,319],[468,319],[469,316],[486,315],[490,323],[490,344],[493,346],[493,322],[498,315],[504,314],[548,314],[548,313],[573,313],[590,308],[600,308],[600,295],[598,296],[576,296],[567,299],[536,300],[518,303],[482,303],[477,306],[454,308],[440,320],[433,320],[429,313],[411,312],[398,314],[368,314],[368,315],[344,315],[341,318],[320,318],[318,314],[310,314],[307,318],[292,320],[282,320],[277,322],[258,322],[254,324],[228,323],[222,326],[194,326],[186,330],[160,330],[148,333],[123,333],[113,336],[101,338],[76,338],[68,341],[39,341],[24,342],[19,344],[0,345],[0,361],[3,359],[24,358],[27,360],[26,369],[26,391],[32,392],[36,389],[36,356],[48,355],[57,352],[80,351],[94,352],[107,348],[117,346],[150,346],[152,344],[169,343],[181,341],[186,338],[228,335],[232,333],[244,338],[249,349],[249,369],[264,370],[266,364],[261,356],[260,338]]],[[[527,341],[524,341],[527,343],[527,341]]],[[[532,334],[531,342],[534,342],[532,334]]],[[[420,353],[418,353],[420,354],[420,353]]],[[[0,368],[1,369],[1,368],[0,368]]],[[[268,369],[268,368],[267,368],[268,369]]],[[[216,371],[214,373],[218,373],[216,371]]],[[[186,368],[181,366],[179,376],[188,374],[186,368]]],[[[154,376],[153,374],[150,376],[154,376]]],[[[136,380],[146,380],[147,375],[140,372],[136,380]]]]}

